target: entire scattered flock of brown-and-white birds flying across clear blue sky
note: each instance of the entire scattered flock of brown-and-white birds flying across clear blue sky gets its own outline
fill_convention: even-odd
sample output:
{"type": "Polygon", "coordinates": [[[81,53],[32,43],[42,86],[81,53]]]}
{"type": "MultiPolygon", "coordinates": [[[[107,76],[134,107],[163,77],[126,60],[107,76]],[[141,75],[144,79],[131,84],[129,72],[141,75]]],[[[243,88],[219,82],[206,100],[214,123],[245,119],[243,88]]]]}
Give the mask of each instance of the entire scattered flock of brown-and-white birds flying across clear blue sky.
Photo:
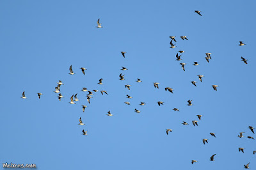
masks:
{"type": "MultiPolygon", "coordinates": [[[[198,13],[198,15],[202,16],[201,11],[197,11],[197,10],[196,10],[195,13],[198,13]]],[[[100,24],[100,19],[97,20],[97,28],[102,28],[102,26],[101,26],[101,24],[100,24]]],[[[171,45],[170,48],[173,49],[173,48],[177,47],[177,46],[175,46],[175,44],[173,44],[173,42],[177,42],[177,40],[175,40],[176,36],[170,36],[170,38],[172,39],[171,42],[170,42],[170,45],[171,45]]],[[[181,38],[182,40],[188,40],[188,37],[187,37],[187,36],[180,36],[180,38],[181,38]]],[[[243,46],[243,45],[246,45],[246,44],[243,43],[243,41],[241,41],[241,42],[239,42],[238,45],[239,45],[239,46],[243,46]]],[[[178,53],[176,54],[176,58],[177,58],[176,60],[177,60],[177,61],[181,61],[181,60],[182,60],[182,59],[181,59],[181,56],[182,56],[182,53],[183,53],[183,52],[185,52],[185,51],[184,51],[184,50],[179,50],[179,51],[178,51],[178,53]],[[180,56],[179,56],[179,53],[180,53],[180,56]]],[[[121,52],[121,54],[122,54],[122,56],[123,56],[124,58],[125,58],[125,54],[126,54],[126,53],[127,53],[127,52],[124,52],[124,51],[121,52]]],[[[212,58],[211,58],[211,53],[210,53],[210,52],[206,52],[205,55],[206,55],[206,56],[205,56],[205,59],[206,59],[206,61],[209,63],[209,59],[212,59],[212,58]]],[[[243,61],[245,64],[248,64],[248,63],[247,63],[248,59],[245,59],[245,58],[243,58],[243,57],[241,57],[241,59],[242,59],[242,61],[243,61]]],[[[185,65],[186,65],[186,63],[180,63],[180,65],[182,66],[182,70],[185,71],[185,65]]],[[[193,65],[194,65],[194,66],[198,66],[199,63],[195,61],[193,65]]],[[[81,67],[80,69],[81,69],[82,73],[85,75],[85,71],[86,71],[87,69],[84,68],[84,67],[81,67]]],[[[125,70],[128,70],[128,69],[122,66],[122,68],[121,68],[120,70],[125,71],[125,70]]],[[[70,75],[75,75],[75,74],[76,74],[76,73],[74,73],[73,70],[72,70],[72,65],[70,65],[69,71],[70,71],[70,72],[69,72],[68,74],[70,74],[70,75]]],[[[125,80],[125,79],[124,79],[124,76],[125,76],[124,74],[120,73],[120,75],[119,75],[120,81],[124,81],[124,80],[125,80]]],[[[198,76],[199,81],[200,81],[200,82],[203,82],[203,81],[202,81],[202,78],[204,77],[204,75],[197,75],[197,76],[198,76]]],[[[103,84],[102,81],[103,81],[103,79],[99,79],[99,83],[98,83],[98,84],[102,85],[102,84],[103,84]]],[[[140,83],[140,82],[142,82],[142,81],[141,81],[141,79],[137,79],[136,82],[139,82],[139,83],[140,83]]],[[[192,83],[194,86],[196,86],[196,83],[197,83],[197,82],[196,82],[196,81],[191,81],[191,83],[192,83]]],[[[63,98],[63,96],[62,96],[61,93],[60,93],[60,87],[61,87],[61,85],[64,85],[64,84],[63,84],[63,82],[61,82],[61,81],[57,82],[57,84],[58,84],[58,85],[56,86],[55,91],[53,91],[53,92],[54,92],[54,93],[58,93],[58,100],[61,101],[61,98],[63,98]]],[[[159,89],[159,82],[154,82],[153,85],[154,85],[154,88],[159,89]]],[[[130,84],[125,84],[125,88],[127,88],[127,89],[130,90],[130,87],[131,87],[130,84]]],[[[213,88],[215,91],[217,91],[217,87],[218,87],[218,85],[215,85],[215,84],[212,85],[212,88],[213,88]]],[[[173,93],[173,90],[174,90],[174,89],[169,88],[169,87],[164,88],[164,89],[165,89],[165,91],[169,91],[170,93],[173,93]]],[[[81,91],[87,91],[87,92],[88,92],[88,94],[86,95],[88,104],[90,104],[90,98],[92,98],[92,95],[93,95],[93,92],[92,92],[92,91],[94,91],[95,93],[98,92],[97,89],[93,89],[92,91],[89,91],[87,88],[83,88],[83,89],[81,89],[81,91]]],[[[107,93],[106,90],[101,90],[100,93],[101,93],[102,95],[104,95],[104,94],[108,95],[108,93],[107,93]]],[[[42,94],[42,93],[37,93],[37,95],[38,95],[38,98],[40,99],[40,98],[41,98],[41,95],[43,95],[43,94],[42,94]]],[[[25,96],[25,91],[23,91],[21,98],[24,98],[24,99],[27,98],[27,97],[25,96]]],[[[132,97],[131,97],[130,95],[127,95],[127,98],[132,98],[132,97]]],[[[79,99],[77,98],[77,93],[76,93],[75,95],[72,95],[72,96],[70,97],[70,102],[69,102],[69,104],[76,104],[75,102],[77,102],[77,101],[79,101],[79,99]]],[[[193,100],[188,100],[188,105],[189,105],[189,106],[193,105],[193,104],[192,104],[192,101],[193,101],[193,100]]],[[[130,102],[124,102],[124,103],[127,104],[127,105],[131,105],[130,102]]],[[[141,102],[140,105],[145,105],[145,104],[146,104],[145,102],[141,102]]],[[[164,102],[163,102],[163,101],[158,101],[157,104],[158,104],[159,106],[161,106],[161,105],[164,105],[164,102]]],[[[83,112],[84,112],[87,106],[86,106],[86,105],[81,105],[81,106],[82,106],[82,109],[83,109],[83,112]]],[[[138,109],[134,109],[134,111],[137,112],[137,113],[140,113],[140,111],[139,111],[138,109]]],[[[174,108],[173,111],[179,111],[179,109],[174,108]]],[[[111,114],[110,111],[108,111],[106,115],[107,115],[107,116],[113,116],[113,114],[111,114]]],[[[195,126],[198,126],[198,122],[201,120],[201,118],[202,118],[203,115],[198,114],[198,115],[196,115],[196,116],[197,116],[198,120],[192,120],[192,121],[191,121],[194,127],[195,127],[195,126]]],[[[186,121],[183,121],[183,123],[181,123],[181,124],[182,124],[182,125],[189,125],[189,123],[187,123],[186,121]]],[[[85,124],[83,123],[81,117],[79,118],[79,123],[78,123],[78,125],[85,125],[85,124]]],[[[252,131],[252,133],[254,134],[254,131],[253,131],[254,127],[248,126],[248,128],[249,128],[249,129],[252,131]]],[[[173,131],[173,130],[172,130],[171,128],[167,128],[167,129],[166,129],[166,134],[169,135],[169,134],[170,134],[169,132],[172,132],[172,131],[173,131]]],[[[88,132],[88,131],[87,131],[87,130],[84,131],[84,129],[83,129],[82,132],[83,132],[83,135],[87,135],[87,132],[88,132]]],[[[239,137],[239,138],[244,137],[244,136],[243,136],[243,133],[245,133],[245,132],[239,132],[238,137],[239,137]]],[[[212,137],[216,137],[216,134],[215,134],[214,132],[210,132],[209,134],[211,134],[212,137]]],[[[248,139],[254,139],[254,138],[253,138],[252,136],[250,136],[250,135],[248,135],[247,138],[248,138],[248,139]]],[[[208,139],[202,139],[202,142],[203,142],[204,144],[205,144],[205,143],[208,143],[208,139]]],[[[238,148],[238,150],[244,153],[244,148],[238,148]]],[[[253,155],[255,155],[255,154],[256,154],[256,150],[255,150],[255,151],[252,151],[252,153],[253,153],[253,155]]],[[[213,154],[213,155],[210,157],[210,160],[211,160],[211,161],[214,161],[214,156],[215,156],[215,155],[216,155],[216,154],[213,154]]],[[[197,161],[197,160],[191,160],[191,164],[194,164],[195,162],[198,162],[198,161],[197,161]]],[[[249,164],[250,164],[250,162],[249,162],[248,164],[244,164],[244,168],[245,168],[245,169],[249,169],[249,168],[250,168],[250,167],[249,167],[249,164]]]]}

